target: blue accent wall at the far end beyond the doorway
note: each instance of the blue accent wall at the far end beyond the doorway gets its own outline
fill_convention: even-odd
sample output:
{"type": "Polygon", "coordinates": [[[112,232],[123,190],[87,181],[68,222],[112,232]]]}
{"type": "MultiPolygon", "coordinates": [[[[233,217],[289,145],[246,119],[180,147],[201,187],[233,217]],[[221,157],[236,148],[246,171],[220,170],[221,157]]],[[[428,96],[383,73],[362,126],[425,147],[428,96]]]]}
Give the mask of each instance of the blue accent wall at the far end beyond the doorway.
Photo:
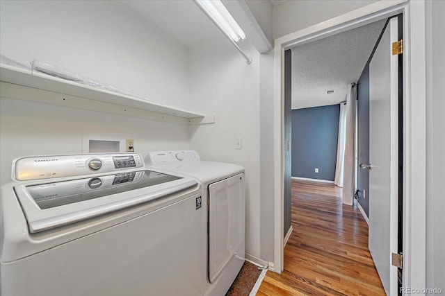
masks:
{"type": "Polygon", "coordinates": [[[334,181],[339,114],[340,105],[292,110],[292,177],[334,181]]]}

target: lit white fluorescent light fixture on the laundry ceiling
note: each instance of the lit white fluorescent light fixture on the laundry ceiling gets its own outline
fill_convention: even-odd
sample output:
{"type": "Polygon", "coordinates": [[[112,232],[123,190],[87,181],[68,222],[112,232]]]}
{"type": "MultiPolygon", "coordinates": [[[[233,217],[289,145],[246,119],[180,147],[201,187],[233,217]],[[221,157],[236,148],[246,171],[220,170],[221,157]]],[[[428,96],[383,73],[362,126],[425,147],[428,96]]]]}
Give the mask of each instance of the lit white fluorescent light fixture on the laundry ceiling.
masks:
{"type": "Polygon", "coordinates": [[[245,33],[220,0],[195,0],[204,12],[215,22],[227,37],[238,42],[245,39],[245,33]]]}

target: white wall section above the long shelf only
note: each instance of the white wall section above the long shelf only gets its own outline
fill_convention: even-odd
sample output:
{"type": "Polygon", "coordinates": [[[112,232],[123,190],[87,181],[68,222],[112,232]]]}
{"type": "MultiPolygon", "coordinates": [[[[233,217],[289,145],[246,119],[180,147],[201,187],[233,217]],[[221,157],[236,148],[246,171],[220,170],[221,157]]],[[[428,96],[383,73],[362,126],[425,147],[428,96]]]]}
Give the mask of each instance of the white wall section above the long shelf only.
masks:
{"type": "Polygon", "coordinates": [[[3,55],[189,107],[188,50],[120,1],[1,1],[3,55]]]}

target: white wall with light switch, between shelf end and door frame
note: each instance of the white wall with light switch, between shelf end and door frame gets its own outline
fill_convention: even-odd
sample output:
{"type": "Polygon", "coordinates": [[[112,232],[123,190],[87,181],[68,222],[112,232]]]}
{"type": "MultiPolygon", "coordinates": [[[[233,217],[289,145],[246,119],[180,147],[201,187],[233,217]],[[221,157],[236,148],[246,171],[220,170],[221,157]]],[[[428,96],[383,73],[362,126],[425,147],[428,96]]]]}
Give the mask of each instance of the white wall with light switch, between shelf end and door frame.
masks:
{"type": "Polygon", "coordinates": [[[216,36],[190,50],[191,104],[216,115],[212,125],[191,130],[191,148],[202,159],[231,162],[245,168],[246,253],[259,257],[259,53],[241,44],[252,64],[224,37],[216,36]],[[242,138],[242,150],[234,139],[242,138]]]}

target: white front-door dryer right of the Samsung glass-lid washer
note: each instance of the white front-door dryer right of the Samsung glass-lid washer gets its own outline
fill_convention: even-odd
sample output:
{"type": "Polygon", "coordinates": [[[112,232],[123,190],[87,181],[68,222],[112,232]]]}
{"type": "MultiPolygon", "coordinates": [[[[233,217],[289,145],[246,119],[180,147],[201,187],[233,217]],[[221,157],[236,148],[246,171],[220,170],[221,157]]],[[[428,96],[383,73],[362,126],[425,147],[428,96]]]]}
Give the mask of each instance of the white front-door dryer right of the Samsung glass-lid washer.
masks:
{"type": "Polygon", "coordinates": [[[225,295],[245,261],[244,168],[201,161],[194,150],[156,151],[146,162],[156,171],[188,175],[202,184],[202,207],[208,212],[203,295],[225,295]]]}

